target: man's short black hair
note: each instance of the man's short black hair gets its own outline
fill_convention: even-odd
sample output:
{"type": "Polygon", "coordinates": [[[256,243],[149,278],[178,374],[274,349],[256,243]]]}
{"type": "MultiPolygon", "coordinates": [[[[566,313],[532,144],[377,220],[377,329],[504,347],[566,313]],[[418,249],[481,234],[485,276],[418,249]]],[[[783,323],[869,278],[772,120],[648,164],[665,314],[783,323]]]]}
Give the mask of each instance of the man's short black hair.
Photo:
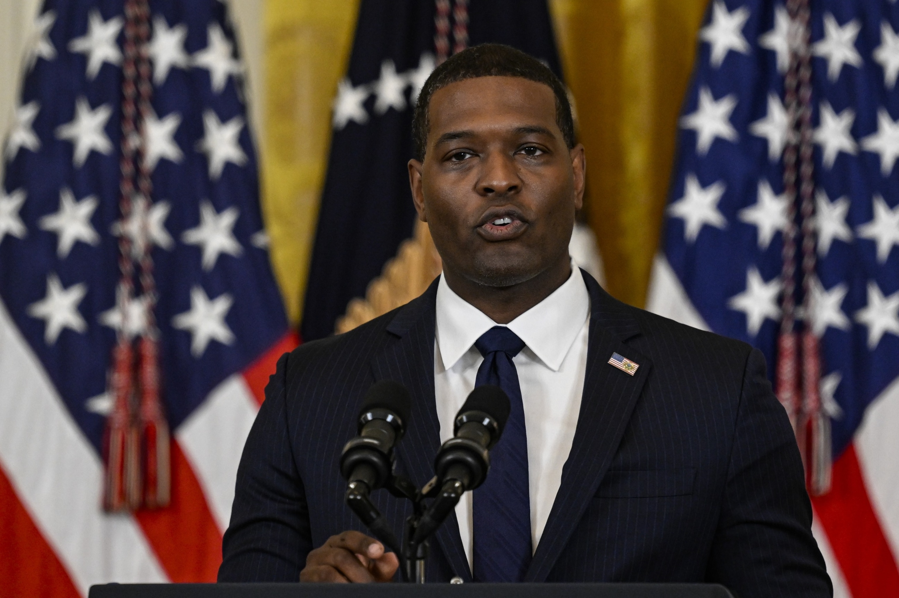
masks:
{"type": "Polygon", "coordinates": [[[556,124],[565,138],[568,149],[574,147],[574,119],[571,115],[571,104],[565,93],[565,85],[541,63],[519,49],[503,44],[480,44],[467,48],[449,57],[441,66],[434,69],[428,80],[424,82],[415,104],[415,116],[412,121],[412,137],[415,147],[415,158],[424,160],[424,152],[428,143],[428,106],[434,92],[449,84],[475,79],[476,77],[521,77],[544,84],[556,95],[556,124]]]}

